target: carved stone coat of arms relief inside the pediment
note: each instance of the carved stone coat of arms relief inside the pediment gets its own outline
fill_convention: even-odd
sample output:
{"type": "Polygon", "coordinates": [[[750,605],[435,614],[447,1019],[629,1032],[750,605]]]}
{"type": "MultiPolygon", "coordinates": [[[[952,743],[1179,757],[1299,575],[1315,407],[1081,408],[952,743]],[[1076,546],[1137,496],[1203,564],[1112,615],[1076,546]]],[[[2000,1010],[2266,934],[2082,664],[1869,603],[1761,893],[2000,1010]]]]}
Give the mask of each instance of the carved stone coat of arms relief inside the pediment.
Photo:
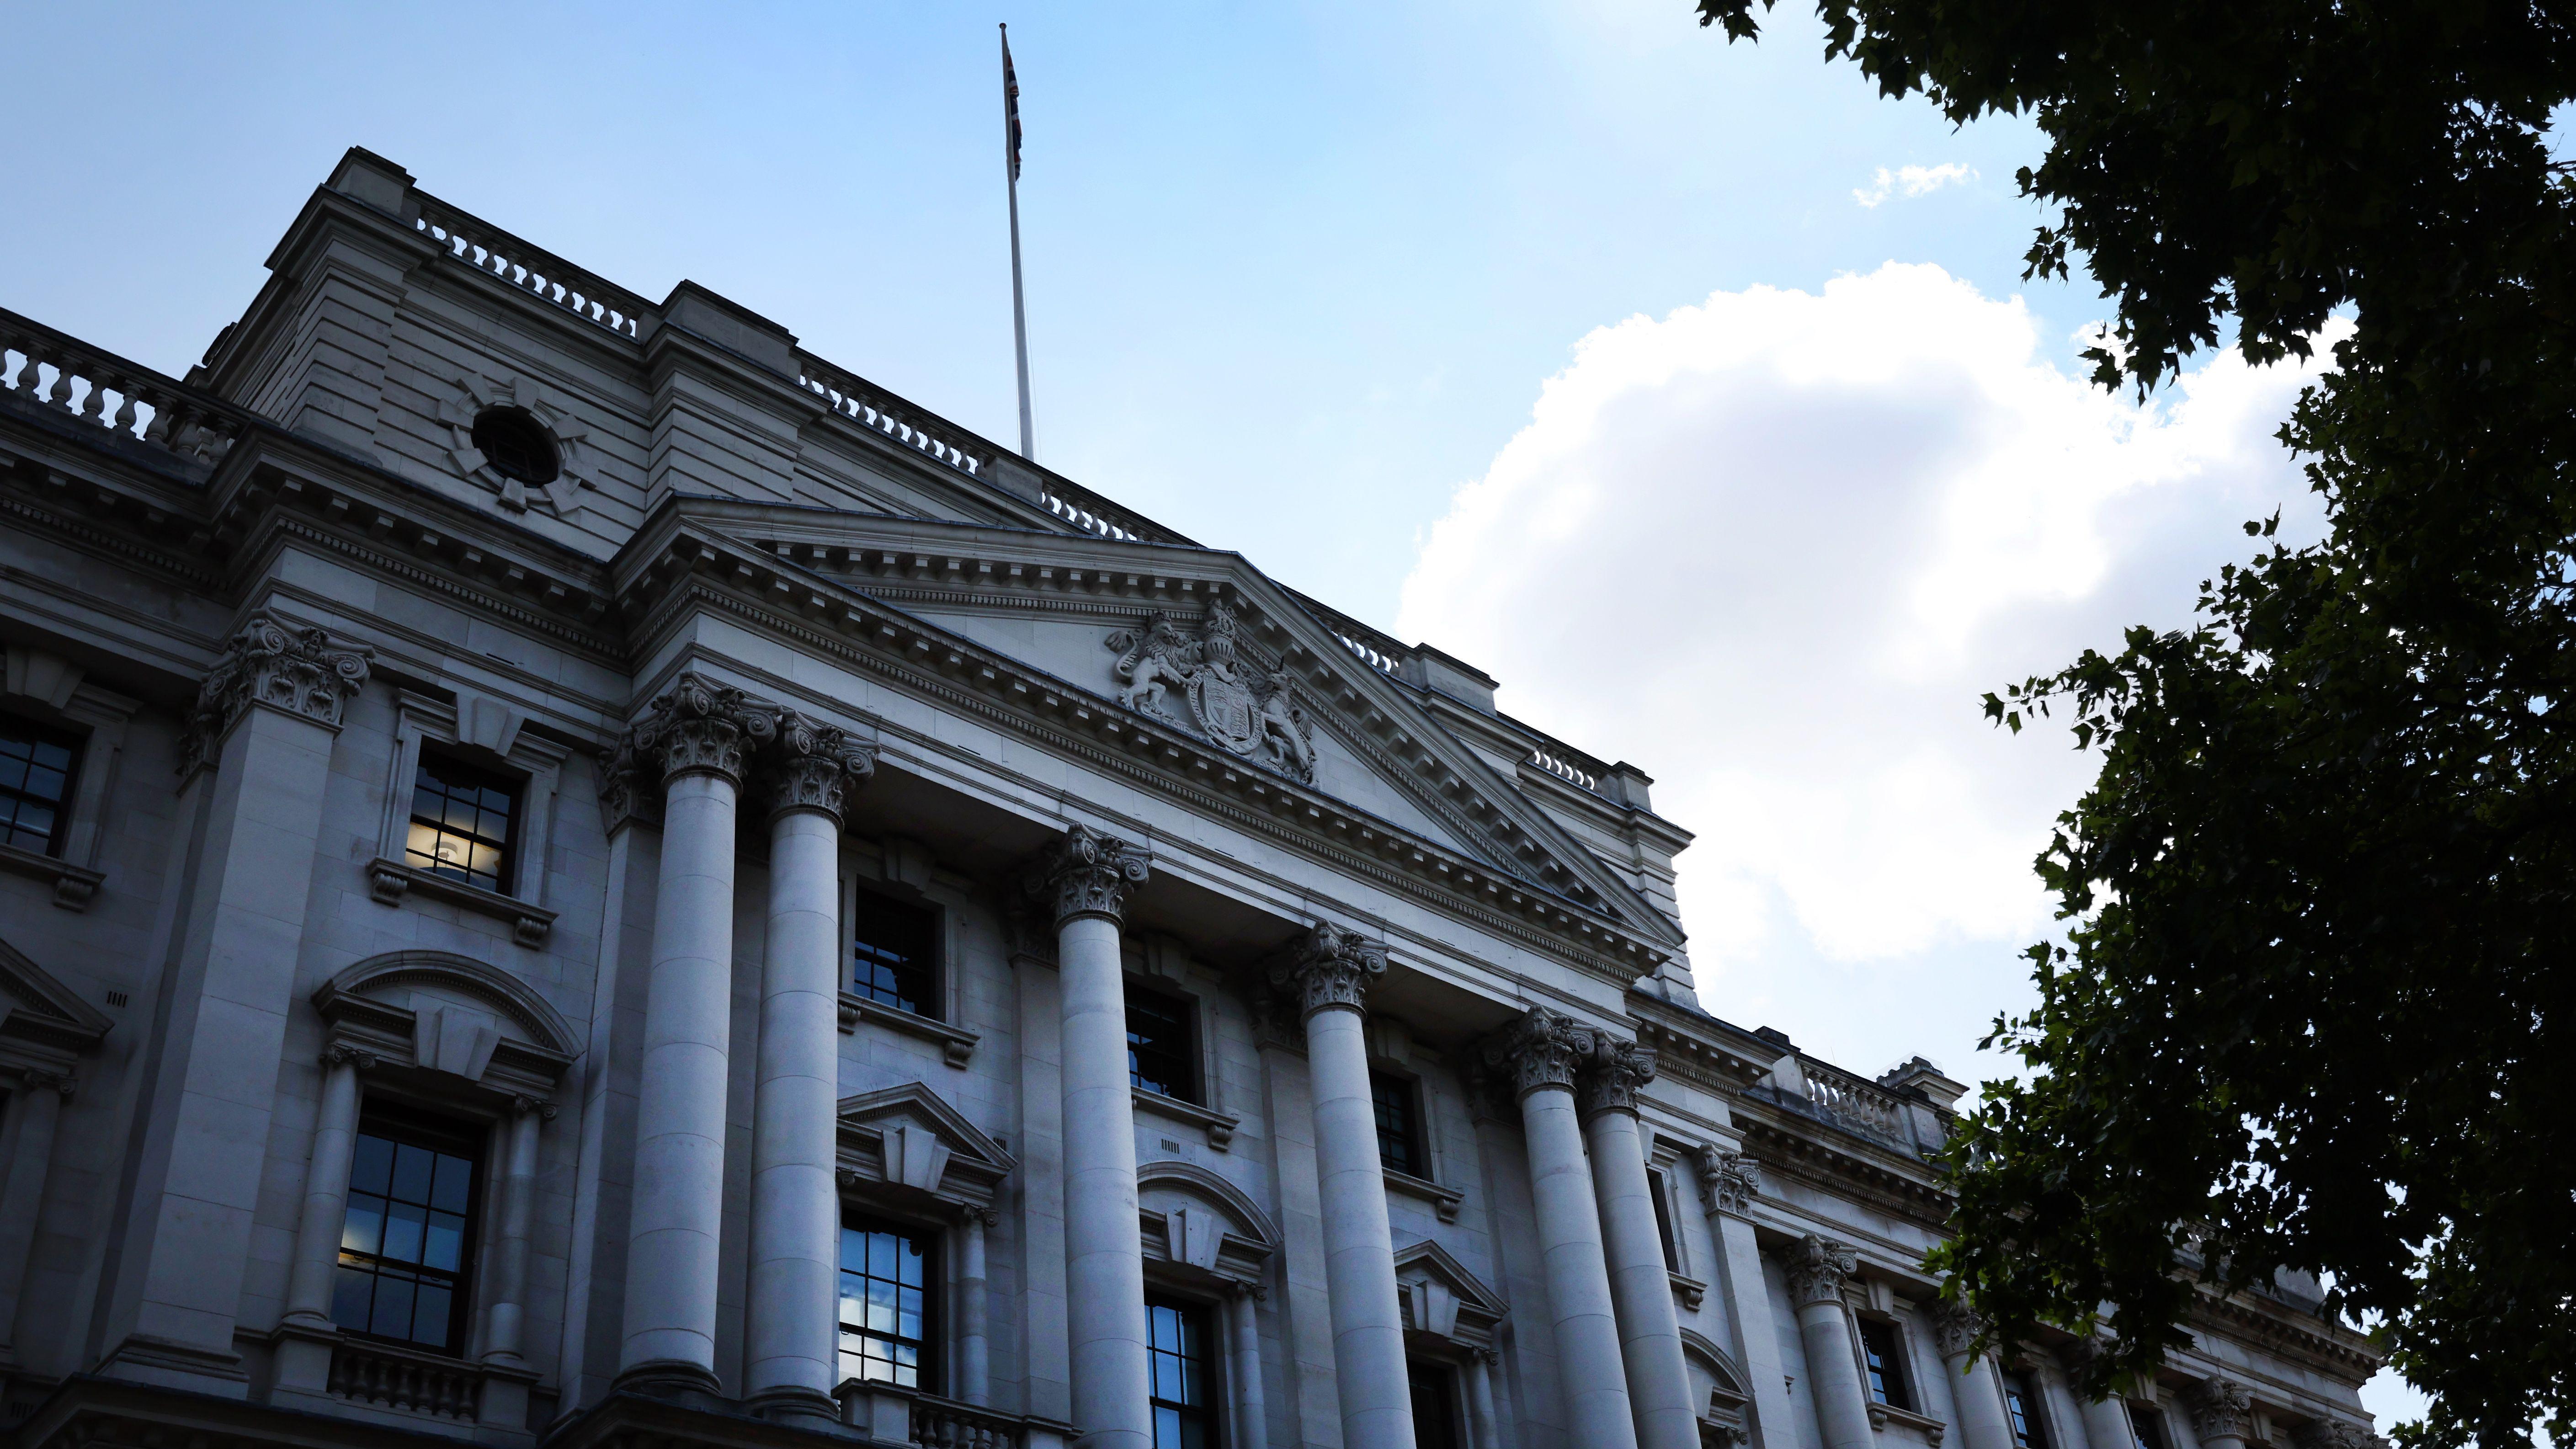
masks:
{"type": "Polygon", "coordinates": [[[1108,647],[1118,650],[1110,676],[1128,709],[1195,727],[1221,750],[1314,781],[1314,727],[1296,706],[1288,670],[1262,670],[1244,657],[1226,601],[1208,606],[1195,634],[1157,608],[1144,629],[1110,634],[1108,647]]]}

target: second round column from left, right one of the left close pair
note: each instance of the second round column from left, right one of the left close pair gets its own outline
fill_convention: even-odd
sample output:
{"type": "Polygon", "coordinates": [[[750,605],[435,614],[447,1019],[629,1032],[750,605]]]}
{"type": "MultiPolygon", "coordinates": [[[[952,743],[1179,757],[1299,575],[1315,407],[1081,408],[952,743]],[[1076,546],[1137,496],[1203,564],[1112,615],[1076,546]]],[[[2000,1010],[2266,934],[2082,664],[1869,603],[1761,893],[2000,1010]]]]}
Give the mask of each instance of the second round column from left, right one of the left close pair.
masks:
{"type": "Polygon", "coordinates": [[[770,1418],[840,1421],[840,820],[876,755],[781,714],[762,761],[770,920],[752,1088],[752,1281],[742,1392],[770,1418]]]}

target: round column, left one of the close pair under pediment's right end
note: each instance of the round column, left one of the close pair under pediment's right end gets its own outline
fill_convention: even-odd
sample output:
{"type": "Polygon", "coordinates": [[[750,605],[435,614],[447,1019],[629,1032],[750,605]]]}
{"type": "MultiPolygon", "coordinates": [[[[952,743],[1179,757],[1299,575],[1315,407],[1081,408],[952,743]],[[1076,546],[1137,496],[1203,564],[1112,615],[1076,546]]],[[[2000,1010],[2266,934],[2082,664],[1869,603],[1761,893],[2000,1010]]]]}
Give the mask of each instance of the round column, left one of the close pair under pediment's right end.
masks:
{"type": "Polygon", "coordinates": [[[1566,1379],[1566,1428],[1584,1449],[1636,1449],[1602,1220],[1584,1165],[1584,1129],[1574,1119],[1574,1073],[1592,1055],[1595,1036],[1589,1026],[1533,1006],[1484,1042],[1484,1062],[1502,1067],[1520,1098],[1556,1366],[1566,1379]]]}

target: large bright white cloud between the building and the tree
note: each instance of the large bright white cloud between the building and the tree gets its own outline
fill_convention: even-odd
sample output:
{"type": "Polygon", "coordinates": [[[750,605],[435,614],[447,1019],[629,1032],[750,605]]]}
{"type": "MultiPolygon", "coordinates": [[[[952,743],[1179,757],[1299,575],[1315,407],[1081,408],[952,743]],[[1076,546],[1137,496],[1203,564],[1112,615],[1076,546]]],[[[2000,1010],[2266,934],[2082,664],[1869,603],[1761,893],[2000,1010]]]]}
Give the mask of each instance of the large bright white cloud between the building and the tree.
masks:
{"type": "Polygon", "coordinates": [[[1698,830],[1682,908],[1713,1011],[1770,995],[1803,1042],[1883,1011],[1842,1042],[1960,1070],[1909,1000],[1965,949],[1996,975],[1955,1031],[2004,1006],[2048,923],[2030,859],[2092,766],[1978,696],[2179,624],[2241,521],[2313,518],[2269,436],[2298,384],[2228,356],[2138,407],[1935,266],[1718,291],[1574,348],[1427,534],[1399,624],[1656,776],[1698,830]]]}

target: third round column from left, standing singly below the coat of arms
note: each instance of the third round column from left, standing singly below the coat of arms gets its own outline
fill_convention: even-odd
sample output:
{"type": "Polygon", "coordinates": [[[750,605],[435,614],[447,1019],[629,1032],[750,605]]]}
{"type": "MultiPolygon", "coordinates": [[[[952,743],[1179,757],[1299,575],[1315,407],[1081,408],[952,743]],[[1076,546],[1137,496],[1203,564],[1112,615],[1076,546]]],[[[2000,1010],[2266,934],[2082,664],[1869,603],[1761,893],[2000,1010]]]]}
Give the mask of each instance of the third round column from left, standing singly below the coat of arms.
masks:
{"type": "Polygon", "coordinates": [[[1146,853],[1074,825],[1028,874],[1064,987],[1064,1284],[1082,1449],[1154,1449],[1118,928],[1146,853]]]}

